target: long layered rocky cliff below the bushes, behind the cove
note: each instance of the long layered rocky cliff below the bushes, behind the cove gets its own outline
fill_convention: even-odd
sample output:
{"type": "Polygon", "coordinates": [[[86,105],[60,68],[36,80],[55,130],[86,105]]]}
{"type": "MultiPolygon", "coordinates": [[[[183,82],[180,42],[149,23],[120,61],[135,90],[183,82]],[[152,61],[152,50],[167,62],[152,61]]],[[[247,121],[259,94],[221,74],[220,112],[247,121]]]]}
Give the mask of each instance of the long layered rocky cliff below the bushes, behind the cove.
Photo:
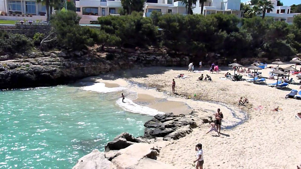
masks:
{"type": "Polygon", "coordinates": [[[189,58],[170,57],[165,51],[107,49],[77,52],[33,52],[0,62],[0,88],[57,85],[88,76],[142,66],[186,66],[189,58]]]}

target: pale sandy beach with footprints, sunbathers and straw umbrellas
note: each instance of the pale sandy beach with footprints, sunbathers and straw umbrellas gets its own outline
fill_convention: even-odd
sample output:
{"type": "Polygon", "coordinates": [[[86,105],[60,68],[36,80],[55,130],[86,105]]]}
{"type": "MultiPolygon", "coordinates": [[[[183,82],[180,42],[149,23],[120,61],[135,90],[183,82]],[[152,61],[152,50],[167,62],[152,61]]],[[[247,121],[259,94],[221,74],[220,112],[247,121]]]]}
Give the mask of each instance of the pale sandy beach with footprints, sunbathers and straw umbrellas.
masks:
{"type": "MultiPolygon", "coordinates": [[[[271,66],[271,65],[268,65],[271,66]]],[[[274,65],[275,66],[275,65],[274,65]]],[[[287,67],[289,65],[280,65],[287,67]]],[[[300,66],[297,66],[299,69],[300,66]]],[[[289,88],[276,89],[268,83],[276,80],[267,79],[266,84],[253,84],[246,81],[225,80],[226,72],[233,74],[230,68],[211,74],[203,69],[204,76],[210,75],[209,81],[196,81],[202,73],[188,72],[186,68],[145,68],[136,77],[129,70],[126,78],[107,75],[92,78],[96,82],[106,82],[106,87],[131,88],[136,91],[135,103],[157,109],[162,112],[185,113],[191,110],[199,117],[214,116],[217,108],[224,114],[221,137],[216,133],[205,133],[209,124],[198,121],[199,128],[186,137],[176,140],[160,151],[159,161],[174,165],[175,168],[195,168],[194,147],[203,144],[204,168],[296,168],[301,162],[301,120],[295,115],[300,112],[301,100],[286,99],[291,89],[300,90],[296,75],[291,77],[295,84],[289,88]],[[142,72],[142,73],[141,73],[142,72]],[[175,93],[172,94],[172,78],[184,73],[190,78],[176,78],[175,93]],[[126,82],[131,84],[126,84],[126,82]],[[111,84],[107,84],[111,83],[111,84]],[[114,85],[113,85],[113,84],[114,85]],[[249,104],[238,106],[239,97],[248,97],[249,104]],[[207,102],[209,101],[209,102],[207,102]],[[262,106],[262,110],[255,108],[262,106]],[[279,106],[283,110],[272,111],[279,106]],[[178,111],[179,110],[179,111],[178,111]]],[[[271,69],[259,70],[263,77],[268,77],[271,69]]],[[[244,78],[249,79],[246,73],[244,78]]]]}

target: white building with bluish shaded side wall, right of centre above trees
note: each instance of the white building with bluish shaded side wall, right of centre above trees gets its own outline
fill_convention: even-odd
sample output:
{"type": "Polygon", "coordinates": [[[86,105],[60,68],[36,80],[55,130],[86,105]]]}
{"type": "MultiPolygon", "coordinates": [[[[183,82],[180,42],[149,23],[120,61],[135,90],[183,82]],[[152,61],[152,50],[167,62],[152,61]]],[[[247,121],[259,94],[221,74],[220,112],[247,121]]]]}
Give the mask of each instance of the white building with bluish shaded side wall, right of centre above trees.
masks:
{"type": "MultiPolygon", "coordinates": [[[[201,3],[197,0],[196,8],[192,9],[194,14],[201,13],[201,3]]],[[[243,11],[240,11],[240,0],[207,0],[204,3],[203,15],[209,14],[234,14],[237,17],[243,16],[243,11]]]]}

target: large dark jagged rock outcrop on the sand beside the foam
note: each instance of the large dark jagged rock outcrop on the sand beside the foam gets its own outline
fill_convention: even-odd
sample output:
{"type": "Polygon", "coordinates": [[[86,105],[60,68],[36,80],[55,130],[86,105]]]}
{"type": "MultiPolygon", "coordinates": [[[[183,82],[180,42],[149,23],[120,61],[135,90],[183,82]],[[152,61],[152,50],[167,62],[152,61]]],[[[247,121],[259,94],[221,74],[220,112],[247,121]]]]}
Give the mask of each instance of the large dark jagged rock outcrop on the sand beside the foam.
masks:
{"type": "Polygon", "coordinates": [[[155,115],[153,119],[144,123],[144,127],[145,138],[163,137],[164,140],[176,140],[190,134],[197,124],[194,119],[183,114],[166,113],[155,115]]]}

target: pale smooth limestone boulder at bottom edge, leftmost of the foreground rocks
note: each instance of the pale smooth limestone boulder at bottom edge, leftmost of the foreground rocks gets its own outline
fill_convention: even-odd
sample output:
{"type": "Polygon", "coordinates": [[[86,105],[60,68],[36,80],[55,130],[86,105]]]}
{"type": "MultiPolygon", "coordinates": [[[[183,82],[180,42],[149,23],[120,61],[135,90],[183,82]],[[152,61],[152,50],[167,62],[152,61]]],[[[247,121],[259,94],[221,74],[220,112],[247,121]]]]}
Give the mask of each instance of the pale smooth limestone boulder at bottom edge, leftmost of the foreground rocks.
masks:
{"type": "Polygon", "coordinates": [[[116,169],[116,166],[104,155],[104,152],[99,152],[98,149],[79,158],[76,165],[72,169],[116,169]]]}

